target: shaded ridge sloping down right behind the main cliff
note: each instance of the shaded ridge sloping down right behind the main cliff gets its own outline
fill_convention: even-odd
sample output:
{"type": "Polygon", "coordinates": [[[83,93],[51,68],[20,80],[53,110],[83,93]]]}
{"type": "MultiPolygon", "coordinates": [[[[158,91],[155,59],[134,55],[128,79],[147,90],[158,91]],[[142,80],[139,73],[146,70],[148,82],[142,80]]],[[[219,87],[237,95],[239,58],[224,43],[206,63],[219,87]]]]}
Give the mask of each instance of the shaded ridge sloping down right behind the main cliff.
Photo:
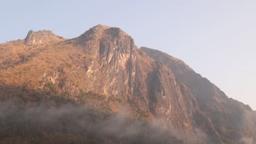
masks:
{"type": "Polygon", "coordinates": [[[200,109],[209,117],[218,134],[225,143],[234,143],[243,137],[256,139],[256,123],[253,110],[248,105],[226,97],[213,83],[199,74],[181,60],[167,53],[141,47],[150,58],[167,65],[191,91],[200,109]]]}

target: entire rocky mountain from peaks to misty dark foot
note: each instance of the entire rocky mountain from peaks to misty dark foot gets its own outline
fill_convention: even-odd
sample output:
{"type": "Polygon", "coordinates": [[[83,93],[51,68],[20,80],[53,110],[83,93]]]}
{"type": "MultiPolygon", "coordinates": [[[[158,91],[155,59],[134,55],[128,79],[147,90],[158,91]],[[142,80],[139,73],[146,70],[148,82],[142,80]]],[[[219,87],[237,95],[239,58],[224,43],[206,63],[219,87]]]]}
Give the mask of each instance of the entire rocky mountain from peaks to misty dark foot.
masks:
{"type": "Polygon", "coordinates": [[[255,143],[255,112],[187,64],[97,25],[0,44],[1,143],[255,143]]]}

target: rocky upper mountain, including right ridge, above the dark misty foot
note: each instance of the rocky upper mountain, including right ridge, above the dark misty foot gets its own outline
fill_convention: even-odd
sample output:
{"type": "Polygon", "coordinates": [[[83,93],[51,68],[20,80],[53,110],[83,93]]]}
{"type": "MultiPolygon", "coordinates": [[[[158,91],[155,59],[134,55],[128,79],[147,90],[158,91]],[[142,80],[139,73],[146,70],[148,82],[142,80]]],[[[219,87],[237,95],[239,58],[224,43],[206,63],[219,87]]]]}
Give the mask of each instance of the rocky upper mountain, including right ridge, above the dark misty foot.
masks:
{"type": "Polygon", "coordinates": [[[132,121],[154,121],[185,143],[255,140],[255,125],[249,127],[255,114],[248,106],[226,97],[181,60],[138,49],[120,28],[97,25],[69,40],[30,31],[25,41],[0,44],[0,50],[2,101],[68,101],[103,113],[125,107],[132,121]]]}

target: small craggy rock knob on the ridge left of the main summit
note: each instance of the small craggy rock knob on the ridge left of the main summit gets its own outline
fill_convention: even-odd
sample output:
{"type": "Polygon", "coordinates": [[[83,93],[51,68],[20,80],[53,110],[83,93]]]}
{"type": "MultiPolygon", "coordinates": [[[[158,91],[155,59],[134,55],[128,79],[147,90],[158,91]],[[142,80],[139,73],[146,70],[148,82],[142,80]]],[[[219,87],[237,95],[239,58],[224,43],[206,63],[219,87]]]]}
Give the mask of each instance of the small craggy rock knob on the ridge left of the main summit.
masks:
{"type": "Polygon", "coordinates": [[[46,41],[55,40],[55,39],[63,39],[63,38],[55,35],[52,31],[43,30],[43,31],[34,32],[33,30],[30,30],[27,33],[27,37],[25,38],[25,44],[26,45],[40,44],[40,43],[44,43],[46,41]]]}

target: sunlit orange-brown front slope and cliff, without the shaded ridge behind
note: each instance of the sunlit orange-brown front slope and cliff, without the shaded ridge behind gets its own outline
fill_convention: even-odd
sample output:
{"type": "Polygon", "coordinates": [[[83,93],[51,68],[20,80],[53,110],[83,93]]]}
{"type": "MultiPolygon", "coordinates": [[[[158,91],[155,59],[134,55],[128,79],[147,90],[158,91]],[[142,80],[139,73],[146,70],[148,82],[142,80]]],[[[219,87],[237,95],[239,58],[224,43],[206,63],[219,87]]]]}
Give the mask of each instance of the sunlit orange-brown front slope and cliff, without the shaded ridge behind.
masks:
{"type": "MultiPolygon", "coordinates": [[[[1,45],[2,100],[21,98],[32,103],[67,97],[81,103],[86,93],[103,94],[106,100],[126,101],[135,111],[132,117],[163,119],[166,129],[178,129],[180,139],[195,136],[193,115],[201,114],[189,89],[164,65],[140,53],[121,29],[98,25],[71,40],[27,45],[30,35],[31,31],[25,43],[1,45]],[[15,87],[18,91],[10,93],[15,87]]],[[[41,32],[32,35],[44,41],[41,32]]],[[[119,106],[110,107],[118,111],[119,106]]],[[[218,139],[214,133],[213,137],[218,139]]]]}

